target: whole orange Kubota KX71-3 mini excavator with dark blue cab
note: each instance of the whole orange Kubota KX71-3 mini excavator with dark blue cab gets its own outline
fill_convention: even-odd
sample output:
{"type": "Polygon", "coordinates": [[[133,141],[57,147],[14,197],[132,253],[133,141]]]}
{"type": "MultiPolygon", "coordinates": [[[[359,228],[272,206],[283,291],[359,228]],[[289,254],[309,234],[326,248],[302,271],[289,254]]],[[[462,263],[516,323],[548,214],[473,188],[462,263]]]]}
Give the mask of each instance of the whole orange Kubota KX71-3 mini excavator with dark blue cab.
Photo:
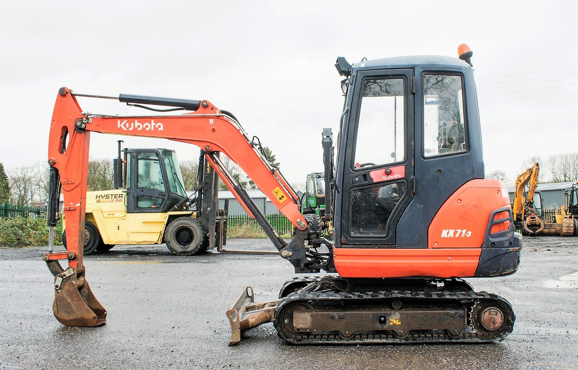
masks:
{"type": "MultiPolygon", "coordinates": [[[[325,213],[303,216],[299,198],[232,113],[206,100],[58,91],[50,128],[49,225],[64,193],[66,253],[43,256],[55,276],[54,315],[65,325],[97,326],[106,310],[83,265],[90,132],[166,138],[194,144],[264,228],[296,273],[279,299],[254,303],[245,288],[228,310],[232,337],[273,322],[291,343],[433,343],[501,341],[513,330],[512,306],[476,292],[462,277],[505,276],[520,262],[508,192],[484,179],[472,52],[362,60],[339,57],[345,94],[339,135],[324,129],[325,213]],[[76,97],[117,99],[180,115],[117,116],[81,109],[76,97]],[[335,148],[335,153],[334,153],[335,148]],[[220,160],[238,164],[294,225],[286,242],[220,160]],[[327,238],[327,230],[331,238],[327,238]],[[62,268],[58,260],[68,260],[62,268]]],[[[297,103],[298,104],[298,103],[297,103]]],[[[305,149],[305,148],[303,148],[305,149]]],[[[295,155],[301,158],[301,155],[295,155]]],[[[133,158],[131,158],[131,161],[133,158]]],[[[134,158],[145,166],[150,158],[134,158]]],[[[130,184],[127,197],[153,196],[130,184]],[[146,194],[145,194],[146,193],[146,194]]],[[[171,197],[173,197],[172,194],[171,197]]],[[[156,196],[156,195],[155,195],[156,196]]],[[[158,195],[161,196],[161,195],[158,195]]],[[[168,195],[164,195],[168,197],[168,195]]],[[[171,198],[171,199],[172,199],[171,198]]],[[[176,199],[187,208],[187,198],[176,199]]]]}

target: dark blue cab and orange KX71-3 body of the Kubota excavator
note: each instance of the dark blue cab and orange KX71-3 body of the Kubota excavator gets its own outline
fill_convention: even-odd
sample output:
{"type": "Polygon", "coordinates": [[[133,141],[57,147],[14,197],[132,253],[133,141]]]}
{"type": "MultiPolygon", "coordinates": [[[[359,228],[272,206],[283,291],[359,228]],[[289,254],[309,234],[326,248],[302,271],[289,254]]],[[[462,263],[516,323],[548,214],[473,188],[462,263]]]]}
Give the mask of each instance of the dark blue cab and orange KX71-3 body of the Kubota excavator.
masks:
{"type": "Polygon", "coordinates": [[[515,271],[519,250],[510,247],[520,239],[509,221],[507,190],[484,180],[472,66],[457,58],[413,56],[353,66],[339,58],[336,67],[347,77],[334,192],[339,274],[515,271]],[[416,271],[414,258],[394,258],[404,255],[428,263],[416,271]]]}

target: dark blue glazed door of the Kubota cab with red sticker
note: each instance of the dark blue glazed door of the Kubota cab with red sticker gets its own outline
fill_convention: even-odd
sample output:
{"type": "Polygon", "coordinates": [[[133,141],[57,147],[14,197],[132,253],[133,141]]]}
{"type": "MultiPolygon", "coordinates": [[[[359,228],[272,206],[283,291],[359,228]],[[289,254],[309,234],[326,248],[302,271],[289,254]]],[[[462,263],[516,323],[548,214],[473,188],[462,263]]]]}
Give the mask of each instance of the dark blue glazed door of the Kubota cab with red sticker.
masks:
{"type": "Polygon", "coordinates": [[[414,73],[358,72],[346,127],[340,245],[392,246],[413,197],[414,73]]]}

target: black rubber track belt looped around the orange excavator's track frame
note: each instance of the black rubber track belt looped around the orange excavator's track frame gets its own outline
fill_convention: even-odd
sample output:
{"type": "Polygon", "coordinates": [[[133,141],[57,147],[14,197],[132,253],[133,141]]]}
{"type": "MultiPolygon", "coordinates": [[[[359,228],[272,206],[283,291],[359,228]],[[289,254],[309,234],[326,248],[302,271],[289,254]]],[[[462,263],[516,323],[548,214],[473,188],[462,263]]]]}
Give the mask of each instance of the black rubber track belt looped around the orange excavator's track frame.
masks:
{"type": "Polygon", "coordinates": [[[487,293],[485,291],[480,292],[466,292],[466,293],[451,293],[451,292],[423,292],[423,291],[375,291],[375,292],[335,292],[330,290],[322,291],[312,291],[306,293],[294,293],[283,299],[275,311],[276,320],[273,321],[273,325],[277,329],[277,334],[279,334],[281,339],[294,344],[359,344],[359,343],[484,343],[484,342],[497,342],[502,341],[509,335],[514,328],[514,321],[516,321],[516,316],[512,310],[512,306],[506,299],[499,297],[496,294],[487,293]],[[387,331],[388,334],[383,334],[381,332],[361,332],[355,333],[351,339],[343,339],[334,331],[331,332],[315,332],[306,335],[295,335],[284,329],[283,324],[277,322],[277,319],[283,317],[283,311],[288,308],[291,304],[297,302],[307,302],[310,305],[314,304],[327,304],[328,302],[335,302],[340,304],[341,301],[357,301],[357,305],[375,305],[376,301],[379,302],[380,299],[387,298],[412,298],[414,299],[424,299],[424,301],[434,300],[435,304],[440,302],[443,304],[444,300],[455,302],[456,299],[461,301],[466,308],[468,308],[468,315],[472,314],[473,308],[478,304],[490,304],[492,306],[498,306],[503,310],[504,323],[502,328],[496,332],[476,332],[475,329],[470,324],[471,318],[468,320],[468,326],[466,330],[469,332],[462,332],[457,337],[452,337],[450,335],[443,333],[436,334],[421,334],[415,333],[408,334],[405,338],[395,337],[391,331],[387,331]],[[365,302],[362,302],[365,301],[365,302]],[[391,333],[391,334],[389,334],[391,333]]]}

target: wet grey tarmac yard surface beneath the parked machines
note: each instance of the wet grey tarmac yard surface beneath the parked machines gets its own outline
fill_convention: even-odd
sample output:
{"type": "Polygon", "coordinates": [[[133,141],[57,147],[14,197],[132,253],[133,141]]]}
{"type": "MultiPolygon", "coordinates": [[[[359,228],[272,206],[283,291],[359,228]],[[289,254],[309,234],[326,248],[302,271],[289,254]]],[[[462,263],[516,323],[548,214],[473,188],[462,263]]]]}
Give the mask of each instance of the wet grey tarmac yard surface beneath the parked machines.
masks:
{"type": "MultiPolygon", "coordinates": [[[[273,247],[230,239],[228,248],[273,247]]],[[[505,341],[483,345],[294,346],[270,323],[229,347],[225,311],[242,288],[275,299],[295,276],[291,265],[278,256],[173,256],[164,245],[87,256],[108,321],[65,327],[52,313],[45,251],[0,249],[0,369],[578,369],[578,238],[524,238],[516,274],[468,279],[517,316],[505,341]]]]}

